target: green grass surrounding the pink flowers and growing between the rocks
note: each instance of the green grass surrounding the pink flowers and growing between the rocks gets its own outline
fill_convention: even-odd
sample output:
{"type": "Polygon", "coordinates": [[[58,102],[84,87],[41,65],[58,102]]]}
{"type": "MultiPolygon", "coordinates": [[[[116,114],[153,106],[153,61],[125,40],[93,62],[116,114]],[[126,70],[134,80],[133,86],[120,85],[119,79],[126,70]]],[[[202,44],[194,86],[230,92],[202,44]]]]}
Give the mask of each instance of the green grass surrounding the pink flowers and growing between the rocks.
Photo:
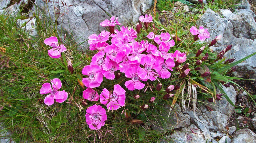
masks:
{"type": "MultiPolygon", "coordinates": [[[[215,10],[218,10],[219,8],[232,7],[231,4],[234,3],[228,1],[226,4],[215,4],[214,6],[209,4],[209,7],[215,7],[215,10]]],[[[167,11],[172,7],[170,1],[160,0],[157,3],[159,11],[167,11]]],[[[179,12],[172,19],[168,18],[168,13],[158,15],[158,17],[163,17],[168,21],[163,27],[170,30],[174,35],[177,29],[177,35],[182,39],[191,38],[189,37],[189,28],[194,26],[200,16],[200,12],[194,15],[182,15],[182,12],[179,12]]],[[[124,114],[121,115],[124,108],[113,113],[110,111],[107,113],[108,120],[102,127],[102,134],[105,135],[105,132],[111,131],[113,135],[107,132],[103,138],[99,139],[98,134],[88,128],[85,118],[85,109],[94,103],[90,102],[86,107],[81,105],[84,89],[78,82],[82,78],[81,69],[90,63],[93,52],[84,51],[86,54],[83,54],[83,52],[77,51],[82,43],[79,40],[74,40],[71,32],[71,34],[67,33],[68,36],[63,41],[68,49],[62,55],[64,60],[52,59],[48,56],[47,49],[49,47],[44,44],[44,39],[56,36],[59,41],[60,39],[63,40],[64,37],[58,36],[59,28],[51,19],[37,11],[34,18],[36,19],[35,25],[37,25],[38,36],[30,39],[23,28],[16,26],[17,19],[22,18],[24,17],[20,14],[16,16],[0,15],[0,47],[6,48],[6,53],[2,53],[1,59],[7,60],[9,58],[10,66],[0,69],[0,102],[1,107],[3,107],[0,112],[0,122],[4,124],[6,130],[12,131],[11,137],[16,142],[94,142],[94,138],[96,142],[157,142],[173,132],[172,129],[167,129],[165,126],[163,126],[165,131],[152,130],[156,123],[160,125],[164,122],[168,123],[162,115],[168,115],[169,110],[164,110],[164,105],[171,105],[171,100],[157,100],[158,104],[152,103],[150,109],[143,111],[140,106],[147,101],[141,99],[137,101],[133,99],[133,92],[127,92],[126,98],[130,102],[127,103],[126,109],[128,109],[127,113],[131,114],[130,119],[142,120],[143,123],[131,124],[127,121],[124,114]],[[41,16],[40,19],[39,15],[41,16]],[[18,39],[24,39],[24,42],[19,44],[18,39]],[[74,66],[74,74],[70,74],[67,70],[66,59],[72,60],[73,66],[79,63],[76,67],[74,66]],[[69,103],[55,103],[52,106],[46,106],[39,102],[46,96],[39,94],[42,84],[53,78],[59,78],[62,81],[62,89],[69,93],[67,101],[69,103]]],[[[158,19],[156,21],[159,22],[158,19]]],[[[178,47],[178,45],[176,46],[178,47]]],[[[183,49],[180,50],[183,51],[183,49]]],[[[188,50],[192,53],[197,51],[197,49],[188,50]]],[[[123,79],[117,82],[121,80],[123,79]]],[[[108,83],[104,85],[105,88],[113,87],[116,84],[110,80],[104,82],[108,83]]],[[[165,80],[164,83],[171,84],[172,82],[165,80]]],[[[154,86],[156,84],[157,82],[153,82],[154,86]]],[[[164,91],[161,90],[153,93],[146,92],[141,96],[148,100],[151,96],[163,96],[163,94],[164,91]]],[[[198,100],[203,100],[205,97],[208,95],[199,97],[198,100]]]]}

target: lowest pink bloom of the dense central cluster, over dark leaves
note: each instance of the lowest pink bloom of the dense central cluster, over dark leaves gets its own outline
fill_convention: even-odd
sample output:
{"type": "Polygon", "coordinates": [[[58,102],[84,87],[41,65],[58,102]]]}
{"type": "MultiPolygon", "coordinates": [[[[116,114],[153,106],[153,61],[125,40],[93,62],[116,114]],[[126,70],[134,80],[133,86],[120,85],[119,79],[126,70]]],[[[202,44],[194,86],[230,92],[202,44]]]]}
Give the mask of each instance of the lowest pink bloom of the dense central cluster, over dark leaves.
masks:
{"type": "MultiPolygon", "coordinates": [[[[124,83],[124,85],[128,90],[131,90],[131,91],[134,89],[141,90],[145,87],[145,84],[140,82],[140,80],[143,80],[143,79],[141,79],[137,74],[138,67],[139,66],[134,66],[134,67],[130,67],[129,70],[126,70],[125,76],[127,78],[132,79],[132,80],[125,81],[124,83]]],[[[146,81],[146,80],[143,80],[143,81],[146,81]]]]}

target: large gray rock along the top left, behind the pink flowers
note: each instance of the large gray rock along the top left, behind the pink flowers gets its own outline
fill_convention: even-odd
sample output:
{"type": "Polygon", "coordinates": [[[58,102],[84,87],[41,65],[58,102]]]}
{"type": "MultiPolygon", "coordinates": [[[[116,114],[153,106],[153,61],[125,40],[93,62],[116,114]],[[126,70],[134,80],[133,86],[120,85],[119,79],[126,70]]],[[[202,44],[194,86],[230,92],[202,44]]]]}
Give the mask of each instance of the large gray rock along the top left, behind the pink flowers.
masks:
{"type": "MultiPolygon", "coordinates": [[[[0,12],[6,10],[17,13],[19,6],[30,1],[32,0],[12,3],[9,0],[3,0],[0,3],[0,12]]],[[[36,8],[43,11],[52,21],[56,21],[58,26],[67,30],[60,34],[72,33],[73,37],[76,37],[75,39],[80,37],[80,42],[84,42],[91,34],[105,30],[105,27],[100,26],[99,23],[105,19],[110,19],[110,16],[118,17],[118,21],[122,24],[137,23],[139,16],[151,7],[153,0],[62,1],[52,0],[45,3],[42,0],[35,0],[35,4],[36,8]]],[[[30,15],[35,12],[33,10],[35,10],[34,7],[31,8],[30,15]]],[[[26,28],[26,30],[30,31],[31,28],[26,28]]],[[[84,43],[84,48],[86,47],[87,44],[84,43]]]]}

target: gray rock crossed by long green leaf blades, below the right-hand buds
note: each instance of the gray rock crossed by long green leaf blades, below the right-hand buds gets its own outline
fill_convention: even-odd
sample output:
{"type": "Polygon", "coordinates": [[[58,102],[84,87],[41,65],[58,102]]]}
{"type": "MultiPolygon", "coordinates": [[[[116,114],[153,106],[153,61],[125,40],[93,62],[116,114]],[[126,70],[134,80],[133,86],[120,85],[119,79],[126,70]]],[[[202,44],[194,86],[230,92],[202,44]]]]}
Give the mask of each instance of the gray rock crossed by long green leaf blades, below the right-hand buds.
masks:
{"type": "MultiPolygon", "coordinates": [[[[236,90],[233,88],[232,85],[230,85],[230,87],[224,87],[222,85],[222,88],[224,90],[224,92],[227,94],[227,96],[230,98],[230,100],[236,104],[236,90]]],[[[209,102],[208,102],[209,103],[209,102]]],[[[232,112],[234,111],[234,106],[232,106],[227,99],[222,96],[222,99],[220,101],[216,101],[216,104],[208,104],[209,107],[211,107],[213,110],[219,111],[225,115],[227,115],[228,117],[230,117],[232,115],[232,112]]]]}

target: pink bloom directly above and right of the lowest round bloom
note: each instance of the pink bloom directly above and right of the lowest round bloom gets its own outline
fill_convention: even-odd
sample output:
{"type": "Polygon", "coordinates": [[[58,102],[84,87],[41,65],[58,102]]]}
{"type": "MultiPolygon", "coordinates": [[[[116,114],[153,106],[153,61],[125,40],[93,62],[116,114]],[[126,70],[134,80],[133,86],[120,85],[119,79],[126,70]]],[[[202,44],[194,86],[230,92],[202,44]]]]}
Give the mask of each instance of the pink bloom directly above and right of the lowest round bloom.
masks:
{"type": "Polygon", "coordinates": [[[117,110],[124,106],[125,90],[119,84],[114,86],[113,93],[104,88],[100,94],[100,102],[105,105],[108,104],[108,110],[117,110]]]}

